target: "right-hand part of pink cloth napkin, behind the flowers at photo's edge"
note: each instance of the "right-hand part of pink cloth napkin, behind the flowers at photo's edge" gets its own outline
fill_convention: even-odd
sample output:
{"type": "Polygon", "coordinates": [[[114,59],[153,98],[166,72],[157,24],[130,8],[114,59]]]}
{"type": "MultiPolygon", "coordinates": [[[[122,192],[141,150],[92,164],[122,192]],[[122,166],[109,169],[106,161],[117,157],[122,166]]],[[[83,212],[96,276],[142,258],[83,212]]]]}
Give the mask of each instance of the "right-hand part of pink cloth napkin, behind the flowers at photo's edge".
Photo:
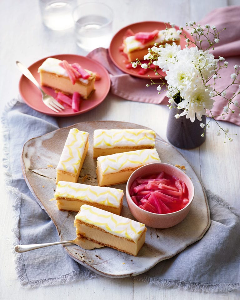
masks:
{"type": "MultiPolygon", "coordinates": [[[[233,66],[240,66],[240,6],[228,6],[223,8],[217,8],[210,12],[202,21],[199,23],[202,26],[210,24],[217,26],[218,30],[222,30],[226,27],[226,30],[223,30],[220,34],[220,42],[215,44],[215,49],[212,50],[215,58],[219,56],[225,58],[228,62],[228,67],[223,68],[219,74],[221,78],[216,81],[216,90],[222,91],[232,83],[230,75],[235,72],[233,66]]],[[[232,93],[239,92],[240,82],[232,85],[227,89],[226,98],[230,99],[232,93]]],[[[215,103],[212,109],[213,115],[219,115],[222,113],[223,107],[227,106],[228,101],[221,96],[214,97],[215,103]]],[[[240,104],[240,94],[238,94],[234,100],[240,104]]],[[[240,126],[240,116],[239,109],[231,105],[231,109],[235,109],[235,113],[229,113],[225,116],[224,121],[228,121],[240,126]]],[[[216,120],[222,120],[222,116],[216,117],[216,120]]]]}

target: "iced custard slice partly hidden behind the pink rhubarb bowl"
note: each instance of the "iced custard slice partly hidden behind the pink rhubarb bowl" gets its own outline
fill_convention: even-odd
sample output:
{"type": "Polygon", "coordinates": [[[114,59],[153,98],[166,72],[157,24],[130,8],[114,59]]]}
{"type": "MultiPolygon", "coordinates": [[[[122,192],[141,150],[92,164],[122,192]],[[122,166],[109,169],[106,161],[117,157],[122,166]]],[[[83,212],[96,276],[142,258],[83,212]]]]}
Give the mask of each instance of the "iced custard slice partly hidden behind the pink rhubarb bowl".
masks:
{"type": "Polygon", "coordinates": [[[156,162],[161,160],[155,148],[99,156],[96,170],[98,185],[125,183],[136,169],[156,162]]]}

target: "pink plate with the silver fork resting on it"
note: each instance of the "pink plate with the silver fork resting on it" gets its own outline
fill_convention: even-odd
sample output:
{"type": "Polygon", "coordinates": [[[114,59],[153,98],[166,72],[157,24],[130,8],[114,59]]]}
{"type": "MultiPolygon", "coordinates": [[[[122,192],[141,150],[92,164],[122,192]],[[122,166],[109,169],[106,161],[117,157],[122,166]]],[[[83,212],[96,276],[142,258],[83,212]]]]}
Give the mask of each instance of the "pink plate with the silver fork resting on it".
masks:
{"type": "MultiPolygon", "coordinates": [[[[35,87],[30,80],[28,80],[24,75],[22,75],[19,81],[19,92],[23,100],[28,106],[37,110],[40,113],[45,113],[50,116],[68,117],[68,116],[79,115],[81,113],[86,113],[103,102],[103,100],[106,98],[109,92],[111,81],[108,75],[108,71],[100,63],[90,58],[80,56],[80,55],[73,55],[73,54],[59,54],[51,57],[58,58],[61,60],[65,59],[69,63],[79,63],[81,66],[83,66],[83,68],[86,68],[88,70],[100,74],[101,79],[95,82],[96,90],[88,100],[83,100],[79,112],[75,113],[72,110],[72,108],[66,106],[65,110],[62,110],[59,113],[55,113],[53,110],[48,108],[42,102],[41,92],[37,89],[37,87],[35,87]]],[[[36,63],[33,63],[28,68],[39,83],[40,83],[40,78],[39,78],[39,74],[37,73],[37,70],[38,67],[40,67],[40,65],[44,62],[44,60],[46,60],[46,58],[42,58],[36,63]]],[[[42,87],[42,89],[44,90],[45,93],[52,95],[53,97],[56,96],[56,93],[52,88],[42,87]]]]}

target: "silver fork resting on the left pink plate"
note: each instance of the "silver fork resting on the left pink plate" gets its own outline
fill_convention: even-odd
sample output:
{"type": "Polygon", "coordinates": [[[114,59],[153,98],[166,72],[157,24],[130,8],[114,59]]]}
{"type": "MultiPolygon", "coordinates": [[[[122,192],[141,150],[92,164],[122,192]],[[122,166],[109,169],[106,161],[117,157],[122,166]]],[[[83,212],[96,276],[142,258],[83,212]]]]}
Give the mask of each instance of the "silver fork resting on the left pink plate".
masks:
{"type": "Polygon", "coordinates": [[[28,70],[27,67],[25,67],[22,63],[19,61],[16,61],[17,67],[21,70],[22,74],[26,76],[35,86],[40,90],[42,93],[42,102],[47,105],[50,109],[52,109],[54,112],[58,113],[62,109],[65,109],[63,105],[58,103],[56,99],[54,99],[52,96],[47,95],[37,82],[37,80],[33,77],[32,73],[28,70]]]}

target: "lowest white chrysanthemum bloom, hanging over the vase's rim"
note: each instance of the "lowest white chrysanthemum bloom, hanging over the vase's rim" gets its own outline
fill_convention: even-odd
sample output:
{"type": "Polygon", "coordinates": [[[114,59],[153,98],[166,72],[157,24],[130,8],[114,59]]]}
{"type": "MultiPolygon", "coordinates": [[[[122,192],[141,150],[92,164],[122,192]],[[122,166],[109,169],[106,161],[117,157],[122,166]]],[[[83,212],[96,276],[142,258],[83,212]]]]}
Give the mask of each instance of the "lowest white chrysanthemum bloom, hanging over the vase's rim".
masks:
{"type": "Polygon", "coordinates": [[[206,109],[212,109],[214,102],[208,92],[205,92],[205,87],[198,86],[196,90],[186,93],[184,100],[178,104],[180,108],[184,109],[180,117],[186,115],[187,119],[194,122],[196,116],[201,121],[202,115],[206,114],[206,109]]]}

